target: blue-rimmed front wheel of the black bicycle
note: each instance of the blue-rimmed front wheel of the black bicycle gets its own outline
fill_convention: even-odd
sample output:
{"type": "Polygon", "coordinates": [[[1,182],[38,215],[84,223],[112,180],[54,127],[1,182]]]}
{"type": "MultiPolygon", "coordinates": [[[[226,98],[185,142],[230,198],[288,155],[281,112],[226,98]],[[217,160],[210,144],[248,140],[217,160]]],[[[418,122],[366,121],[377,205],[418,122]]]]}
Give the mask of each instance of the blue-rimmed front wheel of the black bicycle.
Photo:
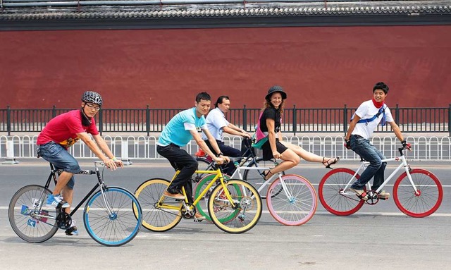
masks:
{"type": "Polygon", "coordinates": [[[108,187],[105,188],[104,195],[106,200],[99,190],[87,200],[83,211],[86,231],[101,245],[125,245],[140,231],[140,203],[135,195],[125,188],[108,187]],[[136,209],[137,213],[133,209],[136,209]]]}

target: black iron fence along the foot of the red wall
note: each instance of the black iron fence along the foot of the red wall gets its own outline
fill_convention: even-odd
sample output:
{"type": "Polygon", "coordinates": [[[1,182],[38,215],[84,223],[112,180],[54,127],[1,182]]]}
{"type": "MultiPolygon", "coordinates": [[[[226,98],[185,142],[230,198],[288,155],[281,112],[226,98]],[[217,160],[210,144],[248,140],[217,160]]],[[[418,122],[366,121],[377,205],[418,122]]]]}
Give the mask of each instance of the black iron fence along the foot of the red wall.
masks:
{"type": "MultiPolygon", "coordinates": [[[[345,133],[357,108],[285,108],[283,133],[345,133]]],[[[71,109],[0,109],[0,132],[39,132],[58,114],[71,109]]],[[[96,121],[100,133],[159,133],[166,123],[183,109],[101,109],[96,121]]],[[[392,108],[395,122],[403,133],[447,133],[451,136],[451,104],[442,108],[392,108]]],[[[228,121],[248,131],[254,130],[260,109],[231,109],[228,121]]],[[[376,132],[391,132],[390,125],[376,132]]]]}

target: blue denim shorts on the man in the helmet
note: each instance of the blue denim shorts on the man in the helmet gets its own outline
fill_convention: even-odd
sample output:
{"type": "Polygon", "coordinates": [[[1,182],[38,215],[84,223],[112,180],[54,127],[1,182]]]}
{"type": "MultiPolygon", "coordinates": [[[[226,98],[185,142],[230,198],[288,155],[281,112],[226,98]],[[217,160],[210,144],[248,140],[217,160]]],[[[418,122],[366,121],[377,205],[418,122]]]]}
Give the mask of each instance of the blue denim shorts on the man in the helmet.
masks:
{"type": "MultiPolygon", "coordinates": [[[[38,145],[37,153],[43,159],[54,164],[57,169],[62,169],[68,173],[79,173],[81,171],[78,161],[64,147],[56,142],[47,142],[44,145],[38,145]]],[[[72,190],[74,185],[75,179],[72,176],[67,186],[72,190]]]]}

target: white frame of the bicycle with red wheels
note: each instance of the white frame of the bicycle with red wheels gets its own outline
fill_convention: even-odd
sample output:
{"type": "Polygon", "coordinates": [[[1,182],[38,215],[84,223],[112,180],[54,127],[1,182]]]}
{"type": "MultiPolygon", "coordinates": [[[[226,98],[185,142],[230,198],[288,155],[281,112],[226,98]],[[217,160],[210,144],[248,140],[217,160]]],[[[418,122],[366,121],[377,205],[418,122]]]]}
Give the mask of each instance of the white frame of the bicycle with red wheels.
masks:
{"type": "MultiPolygon", "coordinates": [[[[376,192],[380,192],[383,187],[393,178],[393,176],[395,176],[395,174],[401,170],[402,167],[404,167],[404,171],[407,173],[407,178],[409,178],[409,182],[412,185],[412,188],[415,191],[415,194],[418,195],[418,190],[416,190],[416,186],[414,184],[414,181],[412,180],[412,176],[410,175],[410,166],[407,163],[407,159],[404,155],[402,155],[401,157],[395,157],[392,159],[382,159],[382,162],[392,162],[392,161],[401,161],[400,166],[397,166],[397,168],[395,168],[395,171],[393,171],[393,173],[390,174],[390,176],[388,176],[388,178],[385,178],[385,180],[383,181],[382,185],[376,190],[376,192]]],[[[352,178],[350,179],[350,181],[347,183],[346,187],[340,191],[340,193],[342,195],[348,195],[347,191],[348,188],[350,187],[350,185],[352,185],[352,183],[354,183],[355,180],[357,180],[356,176],[357,174],[362,171],[363,168],[366,168],[369,165],[369,161],[362,161],[359,168],[357,168],[357,170],[354,173],[354,176],[352,176],[352,178]]],[[[366,183],[366,190],[369,191],[371,190],[371,185],[370,183],[366,183]]],[[[350,191],[350,190],[349,190],[350,191]]],[[[354,194],[354,192],[352,192],[352,194],[354,194]]]]}

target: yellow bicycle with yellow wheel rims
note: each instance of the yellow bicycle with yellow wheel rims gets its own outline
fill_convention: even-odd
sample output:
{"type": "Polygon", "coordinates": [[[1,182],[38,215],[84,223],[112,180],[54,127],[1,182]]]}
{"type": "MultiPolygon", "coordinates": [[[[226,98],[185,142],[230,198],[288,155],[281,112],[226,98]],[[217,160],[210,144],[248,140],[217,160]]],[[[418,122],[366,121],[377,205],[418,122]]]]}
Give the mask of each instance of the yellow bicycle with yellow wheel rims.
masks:
{"type": "MultiPolygon", "coordinates": [[[[173,179],[180,173],[175,171],[173,179]]],[[[221,169],[215,166],[214,170],[196,171],[214,175],[208,185],[194,197],[194,202],[187,200],[187,192],[182,188],[185,200],[176,200],[166,197],[163,192],[171,181],[163,178],[152,178],[144,181],[135,196],[142,205],[142,226],[150,231],[163,232],[177,226],[182,218],[195,219],[197,204],[209,193],[208,213],[211,221],[227,233],[244,233],[253,228],[261,216],[261,198],[259,192],[239,179],[226,179],[221,169]]],[[[172,179],[172,180],[173,180],[172,179]]]]}

